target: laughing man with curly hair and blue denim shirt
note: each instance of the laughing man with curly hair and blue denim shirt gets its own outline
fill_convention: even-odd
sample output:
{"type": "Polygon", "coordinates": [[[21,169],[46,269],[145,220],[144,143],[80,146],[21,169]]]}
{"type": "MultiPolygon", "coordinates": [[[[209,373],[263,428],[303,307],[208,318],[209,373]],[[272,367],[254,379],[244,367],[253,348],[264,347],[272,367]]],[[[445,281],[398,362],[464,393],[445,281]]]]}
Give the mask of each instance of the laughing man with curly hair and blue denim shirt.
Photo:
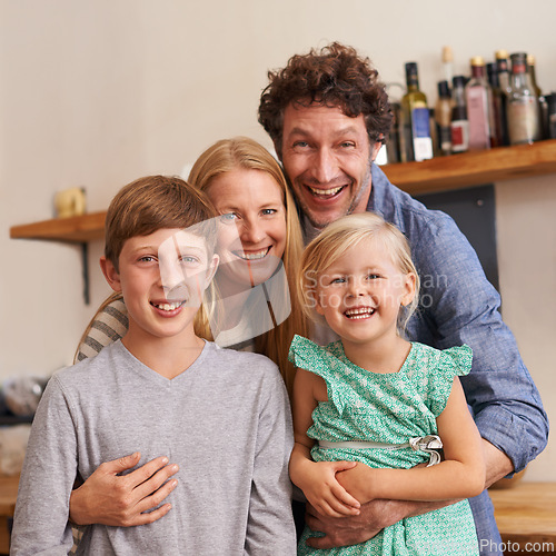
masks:
{"type": "MultiPolygon", "coordinates": [[[[524,469],[547,441],[539,394],[502,320],[499,296],[466,238],[448,216],[427,210],[374,163],[393,120],[377,71],[353,48],[331,43],[294,56],[268,76],[259,122],[289,178],[307,239],[342,215],[366,210],[401,229],[423,284],[409,339],[439,349],[467,344],[474,350],[473,370],[461,383],[483,437],[485,488],[524,469]]],[[[365,466],[339,475],[357,497],[365,466]]],[[[385,526],[438,507],[374,500],[360,516],[329,518],[308,505],[306,520],[325,533],[311,546],[328,548],[361,543],[385,526]]],[[[471,499],[471,508],[481,554],[498,554],[493,547],[502,542],[486,490],[471,499]]]]}

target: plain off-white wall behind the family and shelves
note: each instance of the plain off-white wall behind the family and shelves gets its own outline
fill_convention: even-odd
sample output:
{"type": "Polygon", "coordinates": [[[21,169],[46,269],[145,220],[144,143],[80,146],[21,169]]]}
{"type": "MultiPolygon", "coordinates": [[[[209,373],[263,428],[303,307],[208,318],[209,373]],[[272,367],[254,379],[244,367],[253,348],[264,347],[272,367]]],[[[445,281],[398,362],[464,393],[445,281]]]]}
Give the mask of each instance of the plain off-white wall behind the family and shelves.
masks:
{"type": "MultiPolygon", "coordinates": [[[[9,239],[10,226],[52,216],[57,190],[85,186],[90,210],[102,210],[126,182],[178,173],[217,139],[270,146],[256,119],[267,69],[330,40],[368,54],[387,82],[417,61],[431,101],[444,44],[464,73],[475,54],[534,53],[540,87],[556,90],[556,4],[533,4],[0,0],[0,379],[70,363],[108,292],[100,242],[90,246],[87,307],[77,247],[9,239]]],[[[554,179],[498,185],[497,211],[505,315],[556,417],[554,179]]],[[[556,447],[527,476],[556,480],[555,464],[556,447]]]]}

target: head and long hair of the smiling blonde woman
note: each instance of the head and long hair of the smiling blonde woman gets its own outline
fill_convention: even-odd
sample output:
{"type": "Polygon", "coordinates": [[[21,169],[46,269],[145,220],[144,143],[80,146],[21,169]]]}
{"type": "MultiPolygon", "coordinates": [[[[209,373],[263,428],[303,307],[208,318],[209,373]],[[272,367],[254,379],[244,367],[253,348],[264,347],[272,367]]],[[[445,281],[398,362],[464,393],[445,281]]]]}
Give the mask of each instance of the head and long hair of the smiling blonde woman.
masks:
{"type": "MultiPolygon", "coordinates": [[[[249,302],[248,295],[252,288],[268,285],[266,295],[274,301],[270,316],[277,326],[254,336],[254,348],[278,365],[291,393],[294,368],[288,363],[288,346],[294,334],[307,331],[307,327],[300,307],[288,301],[288,285],[295,281],[304,246],[296,206],[281,168],[258,142],[238,137],[207,149],[193,165],[189,181],[207,193],[221,216],[216,285],[230,302],[226,304],[220,326],[230,330],[241,317],[255,322],[252,328],[264,326],[260,314],[267,315],[266,302],[265,307],[257,298],[249,302]],[[289,311],[284,311],[281,304],[290,308],[284,320],[280,317],[289,311]]],[[[218,315],[214,321],[218,322],[217,318],[218,315]]],[[[218,336],[215,340],[219,342],[218,336]]]]}

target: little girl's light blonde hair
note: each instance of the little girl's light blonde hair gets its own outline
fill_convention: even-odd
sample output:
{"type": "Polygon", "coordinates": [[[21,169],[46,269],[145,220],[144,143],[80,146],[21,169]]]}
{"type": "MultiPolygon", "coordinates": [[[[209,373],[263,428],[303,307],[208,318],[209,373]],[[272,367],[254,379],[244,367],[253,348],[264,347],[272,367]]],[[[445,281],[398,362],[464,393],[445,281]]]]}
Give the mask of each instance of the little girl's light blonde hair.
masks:
{"type": "Polygon", "coordinates": [[[305,249],[297,279],[297,295],[307,317],[320,320],[315,310],[318,277],[350,248],[361,240],[380,241],[401,274],[415,275],[415,295],[410,304],[400,307],[398,334],[403,335],[407,321],[417,308],[419,276],[411,259],[411,250],[401,231],[375,212],[358,212],[339,218],[328,225],[305,249]]]}

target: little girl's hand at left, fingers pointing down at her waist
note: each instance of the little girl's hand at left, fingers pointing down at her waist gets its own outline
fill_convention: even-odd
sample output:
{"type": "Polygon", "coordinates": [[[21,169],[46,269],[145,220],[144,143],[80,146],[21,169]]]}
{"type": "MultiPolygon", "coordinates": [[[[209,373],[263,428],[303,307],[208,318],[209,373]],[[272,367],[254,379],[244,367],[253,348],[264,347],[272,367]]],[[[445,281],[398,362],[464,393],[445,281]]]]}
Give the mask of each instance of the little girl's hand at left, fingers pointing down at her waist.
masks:
{"type": "Polygon", "coordinates": [[[336,479],[336,474],[356,466],[356,461],[312,461],[310,474],[298,485],[312,507],[331,517],[359,515],[359,502],[336,479]]]}

